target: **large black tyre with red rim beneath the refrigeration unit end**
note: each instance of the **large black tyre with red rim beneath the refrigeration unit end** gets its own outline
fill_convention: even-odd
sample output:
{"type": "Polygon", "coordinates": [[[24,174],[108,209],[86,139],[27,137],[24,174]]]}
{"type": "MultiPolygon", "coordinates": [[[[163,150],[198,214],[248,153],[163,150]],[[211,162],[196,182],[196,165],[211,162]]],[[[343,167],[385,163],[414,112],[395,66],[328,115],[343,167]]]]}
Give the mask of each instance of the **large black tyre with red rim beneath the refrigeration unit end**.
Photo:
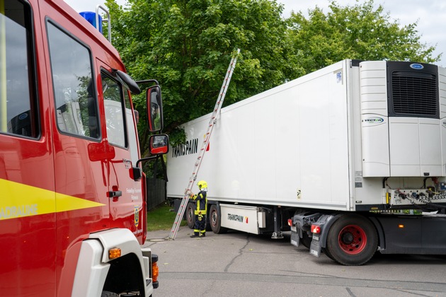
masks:
{"type": "Polygon", "coordinates": [[[372,222],[358,215],[341,216],[328,231],[326,254],[343,265],[362,265],[378,247],[372,222]]]}

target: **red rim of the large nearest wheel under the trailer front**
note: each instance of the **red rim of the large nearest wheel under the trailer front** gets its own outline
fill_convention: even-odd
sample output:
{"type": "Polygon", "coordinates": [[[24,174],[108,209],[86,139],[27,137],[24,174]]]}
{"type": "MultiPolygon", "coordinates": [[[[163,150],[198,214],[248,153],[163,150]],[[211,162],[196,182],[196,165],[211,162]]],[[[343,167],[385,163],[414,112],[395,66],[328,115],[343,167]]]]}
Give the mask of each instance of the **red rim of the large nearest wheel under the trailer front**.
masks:
{"type": "Polygon", "coordinates": [[[338,243],[341,249],[349,255],[357,255],[367,245],[367,235],[357,225],[345,226],[338,235],[338,243]]]}

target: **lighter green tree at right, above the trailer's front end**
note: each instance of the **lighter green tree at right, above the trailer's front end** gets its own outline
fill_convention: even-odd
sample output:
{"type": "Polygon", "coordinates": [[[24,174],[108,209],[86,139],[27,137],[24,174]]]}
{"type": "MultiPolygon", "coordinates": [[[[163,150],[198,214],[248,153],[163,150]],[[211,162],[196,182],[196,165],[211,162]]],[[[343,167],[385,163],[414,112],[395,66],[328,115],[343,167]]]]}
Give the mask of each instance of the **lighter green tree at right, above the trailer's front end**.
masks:
{"type": "Polygon", "coordinates": [[[384,13],[382,5],[374,9],[373,0],[353,6],[331,2],[330,11],[309,10],[292,13],[287,20],[287,38],[295,58],[306,73],[343,59],[438,62],[435,47],[421,42],[417,23],[400,25],[384,13]]]}

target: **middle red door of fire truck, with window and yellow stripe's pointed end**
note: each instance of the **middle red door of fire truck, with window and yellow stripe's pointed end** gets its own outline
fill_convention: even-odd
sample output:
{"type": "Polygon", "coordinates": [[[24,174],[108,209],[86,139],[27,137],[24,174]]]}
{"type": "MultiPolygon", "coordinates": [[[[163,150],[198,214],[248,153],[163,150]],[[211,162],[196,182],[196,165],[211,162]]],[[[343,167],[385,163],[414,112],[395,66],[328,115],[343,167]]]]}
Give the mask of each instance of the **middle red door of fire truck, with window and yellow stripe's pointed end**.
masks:
{"type": "MultiPolygon", "coordinates": [[[[60,21],[46,18],[45,27],[52,83],[49,118],[56,192],[55,260],[59,296],[68,296],[73,275],[67,267],[75,267],[81,240],[109,226],[108,155],[99,124],[93,54],[74,33],[67,33],[60,21]]],[[[70,30],[76,32],[75,26],[70,30]]]]}

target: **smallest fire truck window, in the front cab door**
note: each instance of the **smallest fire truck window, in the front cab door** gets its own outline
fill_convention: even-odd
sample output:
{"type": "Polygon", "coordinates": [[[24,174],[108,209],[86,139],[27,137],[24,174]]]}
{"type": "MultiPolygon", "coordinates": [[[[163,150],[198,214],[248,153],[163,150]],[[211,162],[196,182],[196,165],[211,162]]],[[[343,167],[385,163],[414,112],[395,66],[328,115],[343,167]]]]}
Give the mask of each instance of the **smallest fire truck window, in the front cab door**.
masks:
{"type": "Polygon", "coordinates": [[[126,147],[122,86],[117,81],[103,74],[102,93],[108,141],[110,144],[126,147]]]}

